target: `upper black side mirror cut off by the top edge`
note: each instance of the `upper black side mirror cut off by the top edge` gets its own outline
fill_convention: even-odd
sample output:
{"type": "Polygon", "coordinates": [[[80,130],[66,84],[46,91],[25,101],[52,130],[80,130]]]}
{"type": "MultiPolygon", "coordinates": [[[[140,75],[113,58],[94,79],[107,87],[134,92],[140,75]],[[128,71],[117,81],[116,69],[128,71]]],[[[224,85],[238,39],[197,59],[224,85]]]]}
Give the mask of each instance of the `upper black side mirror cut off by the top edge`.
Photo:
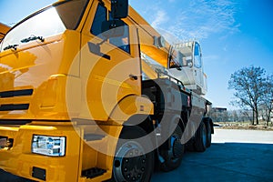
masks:
{"type": "Polygon", "coordinates": [[[111,13],[114,19],[128,16],[128,0],[111,0],[111,13]]]}

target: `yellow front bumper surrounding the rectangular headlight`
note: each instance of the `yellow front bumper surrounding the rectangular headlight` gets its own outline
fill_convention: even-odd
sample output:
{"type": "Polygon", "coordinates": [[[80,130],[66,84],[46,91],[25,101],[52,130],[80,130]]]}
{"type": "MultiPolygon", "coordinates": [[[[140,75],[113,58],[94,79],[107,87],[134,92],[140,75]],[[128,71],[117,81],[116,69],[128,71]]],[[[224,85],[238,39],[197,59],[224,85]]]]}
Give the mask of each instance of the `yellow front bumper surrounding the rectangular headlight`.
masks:
{"type": "Polygon", "coordinates": [[[77,181],[81,139],[73,126],[0,126],[0,136],[12,141],[0,149],[0,168],[5,171],[39,181],[77,181]],[[33,154],[33,135],[66,136],[66,156],[33,154]]]}

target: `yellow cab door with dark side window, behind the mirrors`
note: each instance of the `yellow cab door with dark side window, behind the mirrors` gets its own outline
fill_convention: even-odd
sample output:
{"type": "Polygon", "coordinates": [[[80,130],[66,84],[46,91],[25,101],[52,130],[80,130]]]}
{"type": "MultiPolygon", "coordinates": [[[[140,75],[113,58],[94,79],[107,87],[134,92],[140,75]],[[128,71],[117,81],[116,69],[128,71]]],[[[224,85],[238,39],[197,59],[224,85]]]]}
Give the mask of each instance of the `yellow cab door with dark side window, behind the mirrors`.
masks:
{"type": "Polygon", "coordinates": [[[95,1],[81,34],[81,117],[106,121],[126,96],[141,95],[137,32],[124,19],[124,35],[104,41],[101,24],[109,20],[110,4],[95,1]]]}

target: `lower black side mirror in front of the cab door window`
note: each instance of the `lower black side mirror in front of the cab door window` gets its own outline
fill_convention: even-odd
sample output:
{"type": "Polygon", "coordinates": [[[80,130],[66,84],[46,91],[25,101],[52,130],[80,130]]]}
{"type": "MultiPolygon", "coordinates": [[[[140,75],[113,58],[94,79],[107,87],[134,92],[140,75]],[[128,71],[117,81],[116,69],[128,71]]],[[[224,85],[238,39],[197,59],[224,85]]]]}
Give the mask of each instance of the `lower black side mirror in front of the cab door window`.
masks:
{"type": "Polygon", "coordinates": [[[125,22],[122,20],[104,21],[101,25],[102,35],[106,37],[106,39],[122,36],[125,33],[125,25],[125,22]]]}

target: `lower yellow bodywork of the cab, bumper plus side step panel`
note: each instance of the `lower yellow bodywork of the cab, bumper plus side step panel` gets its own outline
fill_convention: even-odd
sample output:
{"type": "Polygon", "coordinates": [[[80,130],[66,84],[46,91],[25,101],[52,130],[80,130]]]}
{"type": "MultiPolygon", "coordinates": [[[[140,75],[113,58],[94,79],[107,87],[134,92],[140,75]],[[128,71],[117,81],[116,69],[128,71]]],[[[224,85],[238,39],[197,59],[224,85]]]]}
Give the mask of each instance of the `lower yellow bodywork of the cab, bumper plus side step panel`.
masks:
{"type": "MultiPolygon", "coordinates": [[[[92,131],[96,134],[97,126],[86,124],[76,125],[64,122],[35,121],[25,126],[0,126],[1,136],[14,138],[12,148],[0,150],[0,167],[20,177],[38,180],[32,177],[32,168],[40,167],[46,170],[46,181],[103,181],[111,177],[113,157],[97,151],[96,146],[108,147],[107,152],[115,152],[115,146],[122,126],[103,126],[109,136],[116,136],[116,140],[109,140],[106,136],[100,141],[89,144],[82,138],[92,131]],[[45,157],[31,152],[33,135],[66,136],[65,157],[45,157]],[[94,148],[93,148],[94,147],[94,148]],[[100,167],[106,169],[104,176],[92,180],[81,177],[81,171],[100,167]]],[[[91,141],[92,142],[92,141],[91,141]]]]}

